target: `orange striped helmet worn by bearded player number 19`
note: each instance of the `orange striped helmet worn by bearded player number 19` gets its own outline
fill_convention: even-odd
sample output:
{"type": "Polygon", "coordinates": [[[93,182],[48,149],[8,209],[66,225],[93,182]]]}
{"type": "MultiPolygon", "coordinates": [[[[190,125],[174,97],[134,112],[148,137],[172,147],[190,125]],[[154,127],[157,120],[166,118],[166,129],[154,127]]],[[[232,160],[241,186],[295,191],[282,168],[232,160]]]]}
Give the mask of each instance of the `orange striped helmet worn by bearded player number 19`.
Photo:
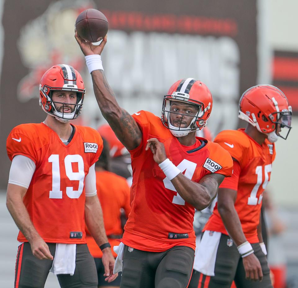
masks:
{"type": "MultiPolygon", "coordinates": [[[[43,108],[43,111],[51,116],[54,116],[60,122],[68,122],[80,116],[83,107],[85,91],[86,90],[82,76],[77,70],[66,64],[54,65],[43,74],[40,80],[39,105],[43,108]],[[52,101],[53,90],[77,92],[76,104],[67,104],[74,105],[73,112],[64,113],[57,111],[55,103],[64,103],[52,101]]],[[[62,111],[64,111],[63,106],[62,111]]]]}

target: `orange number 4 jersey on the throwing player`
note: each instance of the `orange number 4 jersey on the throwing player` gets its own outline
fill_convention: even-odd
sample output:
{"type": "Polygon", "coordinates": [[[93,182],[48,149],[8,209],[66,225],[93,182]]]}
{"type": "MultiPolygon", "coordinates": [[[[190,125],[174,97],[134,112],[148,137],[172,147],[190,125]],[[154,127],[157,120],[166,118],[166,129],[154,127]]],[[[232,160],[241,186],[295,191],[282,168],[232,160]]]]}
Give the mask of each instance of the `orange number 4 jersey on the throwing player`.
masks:
{"type": "Polygon", "coordinates": [[[142,130],[142,143],[130,151],[133,168],[132,211],[121,241],[145,251],[165,251],[175,245],[194,249],[196,236],[192,222],[195,209],[177,194],[172,182],[154,161],[150,149],[145,151],[147,140],[156,137],[162,142],[167,157],[195,182],[212,172],[231,176],[233,160],[218,144],[199,137],[197,142],[205,142],[205,146],[187,153],[190,147],[182,146],[160,118],[150,112],[139,111],[133,118],[142,130]],[[148,239],[148,242],[145,241],[147,244],[141,242],[142,239],[148,239]],[[150,241],[154,249],[148,245],[150,241]]]}

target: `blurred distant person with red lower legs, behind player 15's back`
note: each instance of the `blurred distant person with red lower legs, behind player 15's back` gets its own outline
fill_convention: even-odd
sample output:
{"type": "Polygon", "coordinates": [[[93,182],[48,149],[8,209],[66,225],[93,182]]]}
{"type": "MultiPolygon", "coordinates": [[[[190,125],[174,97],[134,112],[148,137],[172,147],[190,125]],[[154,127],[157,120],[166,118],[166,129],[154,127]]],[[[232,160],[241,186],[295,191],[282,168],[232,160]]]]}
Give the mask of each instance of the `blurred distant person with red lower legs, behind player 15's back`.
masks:
{"type": "Polygon", "coordinates": [[[287,278],[287,259],[283,249],[282,233],[286,225],[278,214],[277,207],[274,205],[270,191],[263,193],[264,218],[268,229],[268,264],[273,274],[273,287],[285,288],[287,278]]]}

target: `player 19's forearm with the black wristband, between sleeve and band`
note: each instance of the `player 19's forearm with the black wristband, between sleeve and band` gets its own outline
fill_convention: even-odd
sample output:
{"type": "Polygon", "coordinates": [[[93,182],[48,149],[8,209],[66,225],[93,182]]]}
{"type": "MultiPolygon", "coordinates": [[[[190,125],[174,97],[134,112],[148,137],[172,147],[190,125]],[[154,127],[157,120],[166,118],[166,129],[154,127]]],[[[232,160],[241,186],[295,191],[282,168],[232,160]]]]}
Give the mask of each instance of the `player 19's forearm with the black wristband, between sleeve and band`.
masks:
{"type": "Polygon", "coordinates": [[[102,207],[97,196],[93,197],[86,197],[85,222],[90,234],[96,241],[97,245],[100,246],[107,243],[108,239],[106,237],[106,230],[103,222],[102,207]],[[93,198],[92,201],[90,201],[91,199],[89,198],[93,198]]]}

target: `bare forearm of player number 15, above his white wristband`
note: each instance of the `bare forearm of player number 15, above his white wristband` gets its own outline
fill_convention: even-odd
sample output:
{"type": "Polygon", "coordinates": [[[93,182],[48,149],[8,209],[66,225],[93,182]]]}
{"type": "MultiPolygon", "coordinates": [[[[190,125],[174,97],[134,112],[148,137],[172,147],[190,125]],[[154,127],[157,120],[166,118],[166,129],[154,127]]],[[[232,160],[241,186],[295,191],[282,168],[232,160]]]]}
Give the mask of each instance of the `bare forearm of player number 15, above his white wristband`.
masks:
{"type": "Polygon", "coordinates": [[[246,242],[246,237],[242,230],[242,225],[235,210],[234,203],[230,205],[221,206],[218,203],[218,212],[224,222],[224,226],[227,229],[230,237],[234,240],[235,244],[239,246],[240,244],[246,242]]]}

